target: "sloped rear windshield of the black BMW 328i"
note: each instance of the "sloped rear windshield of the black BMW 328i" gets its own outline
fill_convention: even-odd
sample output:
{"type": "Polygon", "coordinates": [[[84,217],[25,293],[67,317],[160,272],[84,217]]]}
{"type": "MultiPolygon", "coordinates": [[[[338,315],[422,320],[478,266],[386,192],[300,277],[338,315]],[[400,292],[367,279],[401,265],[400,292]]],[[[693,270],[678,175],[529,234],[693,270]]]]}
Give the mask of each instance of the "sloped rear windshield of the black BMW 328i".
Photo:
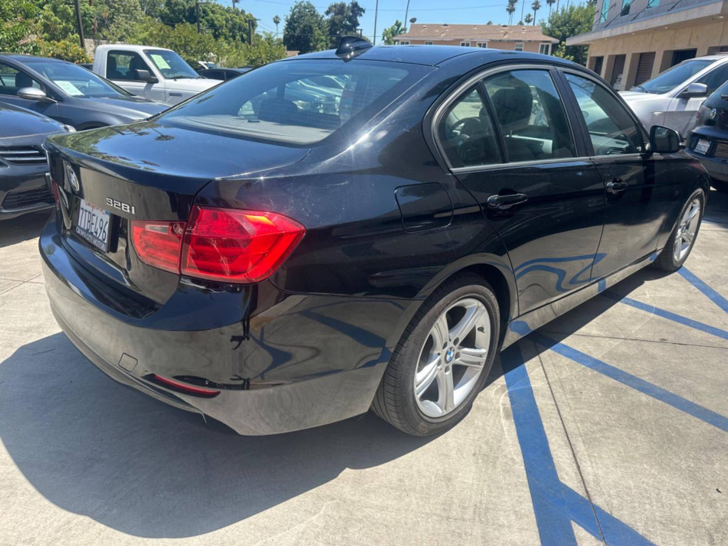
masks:
{"type": "Polygon", "coordinates": [[[371,119],[427,67],[352,60],[271,63],[229,80],[159,119],[242,138],[310,146],[371,119]]]}

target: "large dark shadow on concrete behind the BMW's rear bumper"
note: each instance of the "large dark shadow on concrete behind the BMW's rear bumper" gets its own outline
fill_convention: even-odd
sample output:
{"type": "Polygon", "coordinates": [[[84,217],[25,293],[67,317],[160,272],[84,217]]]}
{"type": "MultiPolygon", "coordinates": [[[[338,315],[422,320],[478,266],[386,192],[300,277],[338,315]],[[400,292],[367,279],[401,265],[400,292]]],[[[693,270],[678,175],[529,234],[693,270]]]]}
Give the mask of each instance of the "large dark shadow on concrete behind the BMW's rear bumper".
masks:
{"type": "Polygon", "coordinates": [[[63,333],[0,363],[0,440],[50,502],[138,537],[221,529],[429,441],[372,414],[285,435],[221,434],[121,388],[63,333]]]}

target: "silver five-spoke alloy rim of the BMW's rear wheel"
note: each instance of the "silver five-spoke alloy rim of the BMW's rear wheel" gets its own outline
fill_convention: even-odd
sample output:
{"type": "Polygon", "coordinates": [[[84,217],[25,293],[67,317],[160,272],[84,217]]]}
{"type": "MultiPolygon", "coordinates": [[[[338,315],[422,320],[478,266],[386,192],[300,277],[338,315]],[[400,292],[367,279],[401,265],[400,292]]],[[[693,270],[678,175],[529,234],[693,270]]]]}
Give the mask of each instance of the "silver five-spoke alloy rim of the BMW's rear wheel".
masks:
{"type": "Polygon", "coordinates": [[[462,298],[430,329],[414,374],[417,407],[428,417],[455,411],[478,384],[491,343],[491,318],[476,298],[462,298]]]}

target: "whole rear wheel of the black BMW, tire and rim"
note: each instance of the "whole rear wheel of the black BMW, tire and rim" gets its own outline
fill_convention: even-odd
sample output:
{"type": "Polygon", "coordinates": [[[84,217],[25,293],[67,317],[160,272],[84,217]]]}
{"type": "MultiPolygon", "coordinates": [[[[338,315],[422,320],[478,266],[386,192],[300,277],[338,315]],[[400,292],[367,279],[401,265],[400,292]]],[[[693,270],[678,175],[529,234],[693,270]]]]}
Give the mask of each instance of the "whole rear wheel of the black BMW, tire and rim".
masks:
{"type": "Polygon", "coordinates": [[[422,304],[405,328],[372,402],[374,413],[414,436],[443,432],[469,411],[498,351],[493,288],[459,274],[422,304]]]}

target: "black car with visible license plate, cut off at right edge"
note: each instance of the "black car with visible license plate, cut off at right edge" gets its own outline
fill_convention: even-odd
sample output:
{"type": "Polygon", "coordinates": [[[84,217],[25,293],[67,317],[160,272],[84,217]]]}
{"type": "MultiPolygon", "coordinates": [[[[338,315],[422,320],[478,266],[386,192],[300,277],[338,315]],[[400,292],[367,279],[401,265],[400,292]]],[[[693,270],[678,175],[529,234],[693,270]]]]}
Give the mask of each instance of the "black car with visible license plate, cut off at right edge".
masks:
{"type": "Polygon", "coordinates": [[[715,189],[728,191],[728,83],[700,106],[687,153],[700,160],[715,189]]]}

